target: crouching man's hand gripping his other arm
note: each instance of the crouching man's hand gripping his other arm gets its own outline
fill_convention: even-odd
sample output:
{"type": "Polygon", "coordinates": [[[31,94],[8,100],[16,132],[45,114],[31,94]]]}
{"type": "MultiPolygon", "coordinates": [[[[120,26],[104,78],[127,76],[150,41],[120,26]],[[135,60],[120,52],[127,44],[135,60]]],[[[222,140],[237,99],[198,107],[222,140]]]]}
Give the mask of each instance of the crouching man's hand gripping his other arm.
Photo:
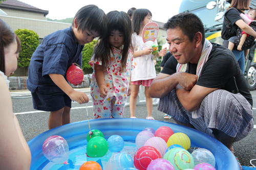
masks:
{"type": "Polygon", "coordinates": [[[181,87],[190,91],[197,83],[198,76],[187,72],[178,72],[180,75],[179,84],[181,87]]]}

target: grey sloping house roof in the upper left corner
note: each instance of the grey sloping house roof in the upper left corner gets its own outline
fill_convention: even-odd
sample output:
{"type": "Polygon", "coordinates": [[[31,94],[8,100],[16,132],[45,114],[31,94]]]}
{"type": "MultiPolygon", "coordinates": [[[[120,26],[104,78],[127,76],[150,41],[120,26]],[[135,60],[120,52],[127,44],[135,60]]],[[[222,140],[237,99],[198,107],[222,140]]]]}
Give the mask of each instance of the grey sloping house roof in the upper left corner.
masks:
{"type": "Polygon", "coordinates": [[[32,5],[23,3],[21,1],[17,0],[7,0],[0,4],[1,8],[9,8],[9,9],[17,9],[17,10],[25,10],[25,11],[31,11],[31,12],[38,12],[43,13],[45,16],[49,13],[49,11],[41,10],[39,8],[36,8],[32,5]]]}

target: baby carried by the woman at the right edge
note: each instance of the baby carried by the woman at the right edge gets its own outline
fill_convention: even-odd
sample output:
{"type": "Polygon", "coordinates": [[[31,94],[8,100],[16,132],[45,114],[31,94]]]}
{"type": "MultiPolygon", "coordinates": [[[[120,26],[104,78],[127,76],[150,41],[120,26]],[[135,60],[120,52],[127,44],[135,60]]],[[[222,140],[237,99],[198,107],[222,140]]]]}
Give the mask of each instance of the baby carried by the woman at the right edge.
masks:
{"type": "MultiPolygon", "coordinates": [[[[245,23],[247,23],[247,25],[250,25],[251,21],[256,20],[256,9],[251,9],[251,10],[248,11],[247,14],[241,14],[240,16],[243,18],[245,23]],[[243,15],[243,17],[242,17],[242,15],[243,15]]],[[[242,37],[241,37],[240,43],[238,45],[238,50],[239,51],[242,51],[242,46],[245,42],[246,37],[248,37],[248,36],[249,36],[249,34],[246,34],[244,31],[242,31],[242,37]]],[[[228,39],[228,49],[230,51],[233,50],[234,41],[236,39],[237,39],[237,36],[234,36],[234,37],[231,37],[231,38],[228,39]]],[[[245,50],[244,53],[245,53],[244,56],[246,58],[248,56],[249,49],[245,50]]]]}

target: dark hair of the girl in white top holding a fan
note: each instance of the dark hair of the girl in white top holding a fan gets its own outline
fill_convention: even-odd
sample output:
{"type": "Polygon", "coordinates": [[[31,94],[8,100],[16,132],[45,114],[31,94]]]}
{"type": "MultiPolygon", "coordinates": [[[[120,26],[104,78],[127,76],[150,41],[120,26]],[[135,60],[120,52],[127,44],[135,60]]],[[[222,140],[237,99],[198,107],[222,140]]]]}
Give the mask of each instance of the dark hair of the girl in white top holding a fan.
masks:
{"type": "Polygon", "coordinates": [[[142,21],[144,18],[150,15],[152,17],[152,13],[148,9],[137,9],[133,13],[133,30],[137,35],[140,33],[140,28],[142,25],[142,21]]]}

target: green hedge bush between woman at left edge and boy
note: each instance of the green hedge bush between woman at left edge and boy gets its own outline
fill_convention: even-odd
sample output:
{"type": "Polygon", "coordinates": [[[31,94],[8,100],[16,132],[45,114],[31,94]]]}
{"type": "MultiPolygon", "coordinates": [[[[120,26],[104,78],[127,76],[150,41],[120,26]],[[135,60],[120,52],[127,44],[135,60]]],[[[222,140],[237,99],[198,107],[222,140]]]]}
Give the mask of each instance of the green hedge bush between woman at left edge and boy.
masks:
{"type": "Polygon", "coordinates": [[[39,45],[39,36],[36,32],[27,29],[17,29],[14,31],[20,39],[22,48],[19,52],[18,67],[28,67],[30,58],[39,45]]]}

